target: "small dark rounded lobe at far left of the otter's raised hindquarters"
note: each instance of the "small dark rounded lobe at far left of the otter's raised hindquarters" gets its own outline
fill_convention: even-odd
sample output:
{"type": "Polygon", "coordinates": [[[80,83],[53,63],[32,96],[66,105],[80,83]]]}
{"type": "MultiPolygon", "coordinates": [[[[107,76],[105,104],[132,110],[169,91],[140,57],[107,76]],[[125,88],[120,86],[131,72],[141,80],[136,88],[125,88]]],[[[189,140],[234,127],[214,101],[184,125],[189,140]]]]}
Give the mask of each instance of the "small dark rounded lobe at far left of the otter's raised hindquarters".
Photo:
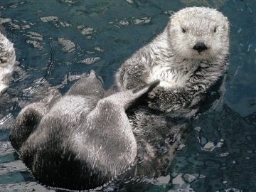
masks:
{"type": "Polygon", "coordinates": [[[16,118],[14,127],[11,128],[9,137],[14,149],[19,151],[29,135],[38,127],[45,113],[46,106],[43,102],[32,103],[21,110],[16,118]]]}

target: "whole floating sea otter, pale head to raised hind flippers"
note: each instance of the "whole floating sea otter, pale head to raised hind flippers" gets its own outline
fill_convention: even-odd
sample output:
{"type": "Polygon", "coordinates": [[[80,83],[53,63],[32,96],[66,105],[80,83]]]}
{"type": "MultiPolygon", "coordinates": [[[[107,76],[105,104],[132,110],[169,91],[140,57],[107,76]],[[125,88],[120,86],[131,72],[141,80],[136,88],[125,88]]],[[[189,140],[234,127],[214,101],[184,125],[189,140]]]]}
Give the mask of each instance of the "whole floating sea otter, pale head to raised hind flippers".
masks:
{"type": "Polygon", "coordinates": [[[11,143],[48,186],[81,190],[119,174],[161,174],[159,166],[171,163],[186,137],[188,127],[179,118],[198,112],[210,90],[218,91],[215,84],[222,85],[228,37],[228,19],[220,12],[182,9],[118,70],[120,92],[105,97],[92,72],[60,99],[25,107],[11,129],[11,143]],[[148,92],[150,108],[132,108],[128,119],[125,109],[148,92]]]}

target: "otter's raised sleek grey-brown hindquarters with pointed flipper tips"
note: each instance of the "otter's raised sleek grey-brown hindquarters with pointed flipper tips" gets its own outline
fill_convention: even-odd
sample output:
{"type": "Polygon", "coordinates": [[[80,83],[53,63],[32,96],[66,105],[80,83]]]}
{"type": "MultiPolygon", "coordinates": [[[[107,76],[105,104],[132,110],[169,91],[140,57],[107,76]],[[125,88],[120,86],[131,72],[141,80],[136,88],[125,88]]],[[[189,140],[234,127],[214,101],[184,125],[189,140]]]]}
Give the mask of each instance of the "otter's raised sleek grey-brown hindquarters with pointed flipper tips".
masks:
{"type": "Polygon", "coordinates": [[[11,144],[40,183],[75,190],[102,186],[134,163],[137,142],[125,110],[158,84],[103,98],[92,71],[63,97],[21,110],[11,144]]]}

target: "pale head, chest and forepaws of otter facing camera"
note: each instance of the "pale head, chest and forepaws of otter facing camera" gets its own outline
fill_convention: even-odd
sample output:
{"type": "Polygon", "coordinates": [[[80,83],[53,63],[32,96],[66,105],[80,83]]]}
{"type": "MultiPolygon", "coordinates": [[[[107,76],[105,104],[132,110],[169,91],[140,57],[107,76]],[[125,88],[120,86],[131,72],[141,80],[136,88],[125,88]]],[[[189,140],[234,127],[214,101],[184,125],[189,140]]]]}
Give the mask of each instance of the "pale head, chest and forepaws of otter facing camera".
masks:
{"type": "Polygon", "coordinates": [[[154,110],[191,117],[228,68],[229,22],[219,11],[181,9],[163,33],[126,60],[115,75],[118,90],[160,80],[149,93],[154,110]]]}

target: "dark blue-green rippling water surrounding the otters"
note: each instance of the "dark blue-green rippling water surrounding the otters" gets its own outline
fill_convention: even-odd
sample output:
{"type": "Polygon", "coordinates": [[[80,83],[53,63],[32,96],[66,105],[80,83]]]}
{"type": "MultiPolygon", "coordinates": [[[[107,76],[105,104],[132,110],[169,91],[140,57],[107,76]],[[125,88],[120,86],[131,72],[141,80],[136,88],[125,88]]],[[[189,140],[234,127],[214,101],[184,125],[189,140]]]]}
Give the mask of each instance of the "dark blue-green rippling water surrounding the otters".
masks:
{"type": "Polygon", "coordinates": [[[169,175],[119,191],[256,191],[256,1],[249,0],[1,1],[18,65],[0,101],[0,191],[58,191],[36,183],[9,143],[14,118],[41,97],[41,87],[65,92],[91,69],[109,87],[117,68],[161,33],[173,11],[193,5],[218,8],[231,23],[223,103],[193,122],[169,175]]]}

